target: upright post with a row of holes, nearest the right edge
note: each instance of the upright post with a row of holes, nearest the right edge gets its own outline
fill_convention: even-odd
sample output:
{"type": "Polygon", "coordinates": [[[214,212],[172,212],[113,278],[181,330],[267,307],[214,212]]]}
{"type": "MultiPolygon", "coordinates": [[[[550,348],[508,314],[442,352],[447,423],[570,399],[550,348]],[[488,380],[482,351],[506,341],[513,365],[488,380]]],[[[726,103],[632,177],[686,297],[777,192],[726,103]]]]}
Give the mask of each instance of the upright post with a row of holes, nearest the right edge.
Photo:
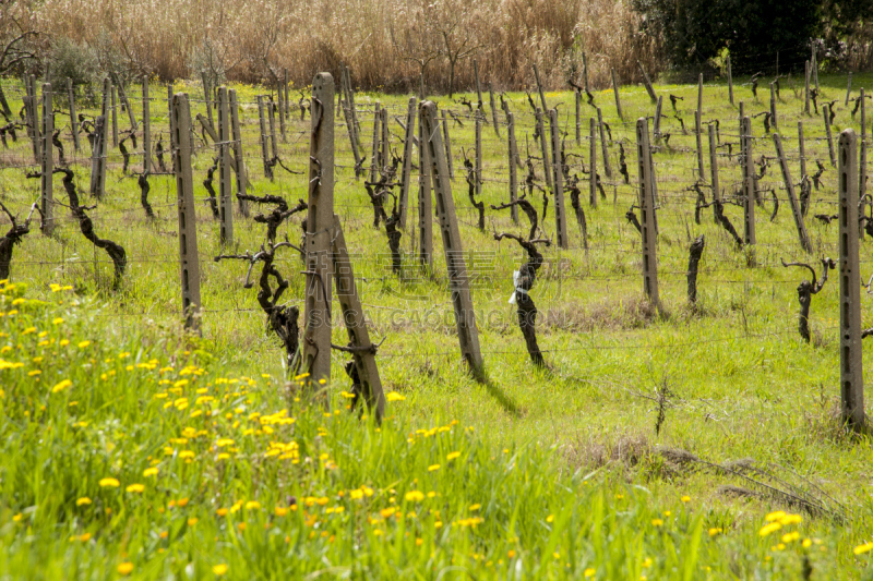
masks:
{"type": "Polygon", "coordinates": [[[839,135],[839,342],[841,420],[864,427],[861,273],[858,242],[858,150],[851,129],[839,135]]]}

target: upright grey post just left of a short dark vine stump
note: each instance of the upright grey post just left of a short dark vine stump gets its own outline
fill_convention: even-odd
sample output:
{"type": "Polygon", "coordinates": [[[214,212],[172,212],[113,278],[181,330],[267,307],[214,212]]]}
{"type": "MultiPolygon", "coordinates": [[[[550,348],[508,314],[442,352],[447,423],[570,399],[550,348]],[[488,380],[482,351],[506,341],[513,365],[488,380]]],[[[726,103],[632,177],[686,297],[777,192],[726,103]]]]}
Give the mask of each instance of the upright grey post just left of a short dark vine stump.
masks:
{"type": "Polygon", "coordinates": [[[639,205],[643,240],[643,290],[649,302],[660,308],[658,295],[658,239],[655,228],[655,198],[651,190],[651,147],[648,140],[648,120],[636,120],[636,157],[639,167],[639,205]]]}

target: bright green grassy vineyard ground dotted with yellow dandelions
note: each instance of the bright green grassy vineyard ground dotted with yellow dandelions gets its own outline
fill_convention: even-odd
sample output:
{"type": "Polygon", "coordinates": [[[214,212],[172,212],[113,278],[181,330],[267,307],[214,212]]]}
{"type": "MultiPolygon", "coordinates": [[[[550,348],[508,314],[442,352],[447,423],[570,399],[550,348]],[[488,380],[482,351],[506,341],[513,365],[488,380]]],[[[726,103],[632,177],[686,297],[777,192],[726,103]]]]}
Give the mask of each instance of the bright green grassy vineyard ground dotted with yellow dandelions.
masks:
{"type": "MultiPolygon", "coordinates": [[[[838,99],[836,141],[840,130],[857,130],[860,117],[852,121],[852,104],[844,106],[845,77],[821,81],[820,104],[838,99]]],[[[873,75],[854,76],[853,87],[864,84],[873,86],[873,75]]],[[[737,102],[751,114],[766,110],[765,85],[754,99],[748,82],[738,82],[737,102]]],[[[803,261],[818,269],[818,258],[836,257],[837,241],[836,223],[813,217],[837,207],[824,123],[801,114],[802,100],[790,85],[782,80],[778,108],[793,181],[800,180],[799,120],[808,172],[816,170],[816,159],[826,168],[806,219],[813,255],[798,244],[774,161],[761,186],[775,189],[780,209],[773,221],[772,202],[757,209],[756,266],[714,223],[711,208],[695,223],[696,193],[687,190],[696,180],[694,135],[665,118],[661,128],[671,137],[655,153],[660,314],[643,296],[639,237],[624,217],[636,196],[634,120],[651,116],[654,107],[642,87],[624,87],[622,123],[611,92],[594,95],[612,132],[613,175],[602,175],[607,197],[596,208],[588,204],[587,180],[579,182],[587,252],[572,210],[571,249],[543,250],[547,264],[531,296],[543,315],[538,338],[546,368],[531,365],[507,304],[522,252],[493,240],[494,230],[526,233],[525,217],[516,226],[509,210],[488,209],[486,232],[477,229],[461,169],[462,147],[469,150],[474,141],[473,119],[463,106],[435,98],[464,123],[452,126],[453,192],[465,254],[481,275],[474,302],[485,384],[461,363],[439,235],[432,273],[408,255],[408,232],[402,239],[403,280],[391,273],[384,229],[372,228],[369,198],[354,177],[345,126],[337,121],[336,213],[372,337],[385,338],[376,358],[390,392],[381,426],[344,411],[348,380],[339,353],[328,408],[311,404],[294,382],[286,385],[282,349],[265,332],[255,290],[242,288],[246,265],[212,261],[223,249],[200,186],[213,155],[203,144],[194,161],[195,196],[203,203],[203,338],[182,334],[175,179],[151,179],[158,218],[150,221],[136,181],[122,174],[113,150],[106,199],[89,215],[98,235],[127,249],[122,288],[111,290],[111,263],[58,207],[63,219],[57,234],[43,237],[32,225],[2,290],[0,571],[39,579],[870,578],[864,549],[873,548],[866,545],[873,541],[873,504],[865,467],[873,450],[868,438],[846,435],[837,421],[838,286],[828,281],[813,298],[814,337],[806,344],[797,331],[796,287],[808,274],[779,264],[803,261]],[[630,184],[617,171],[619,143],[627,153],[630,184]],[[701,233],[707,246],[692,308],[687,247],[701,233]]],[[[204,112],[196,87],[176,89],[188,90],[195,112],[204,112]]],[[[696,86],[656,89],[667,101],[665,114],[672,116],[669,94],[684,97],[678,114],[692,130],[696,86]]],[[[283,195],[291,204],[306,199],[304,177],[276,168],[275,182],[263,178],[252,106],[258,88],[238,92],[254,193],[283,195]]],[[[152,122],[155,133],[164,131],[166,146],[164,89],[154,86],[152,95],[162,96],[152,105],[152,122]]],[[[537,155],[527,97],[506,98],[523,159],[526,143],[537,155]]],[[[587,168],[594,110],[583,106],[576,145],[573,95],[550,93],[547,99],[563,104],[567,150],[581,154],[587,168]]],[[[407,97],[358,94],[357,100],[369,150],[373,104],[404,116],[407,97]]],[[[13,102],[19,107],[20,100],[13,102]]],[[[139,104],[134,110],[139,118],[139,104]]],[[[309,118],[291,117],[279,150],[300,171],[308,160],[309,118]]],[[[726,86],[705,87],[702,117],[720,121],[721,143],[732,143],[736,154],[737,108],[728,104],[726,86]]],[[[762,118],[753,128],[755,158],[773,156],[762,118]]],[[[402,133],[393,121],[392,132],[402,133]]],[[[482,198],[502,203],[509,198],[506,128],[501,140],[491,126],[482,135],[482,198]]],[[[395,137],[399,152],[398,143],[395,137]]],[[[64,145],[71,157],[69,138],[64,145]]],[[[704,150],[708,182],[706,138],[704,150]]],[[[87,191],[88,153],[84,142],[72,165],[80,192],[87,191]]],[[[720,182],[730,197],[740,170],[736,155],[719,153],[720,182]]],[[[35,169],[32,161],[24,138],[0,156],[0,201],[19,215],[38,197],[38,180],[25,178],[35,169]]],[[[581,159],[571,164],[571,173],[584,178],[581,159]]],[[[56,198],[67,202],[60,180],[55,183],[56,198]]],[[[541,196],[535,199],[541,215],[541,196]]],[[[553,202],[549,206],[543,235],[554,239],[553,202]]],[[[727,208],[742,232],[740,208],[727,208]]],[[[411,209],[410,223],[416,216],[411,209]]],[[[279,235],[298,241],[300,218],[279,235]]],[[[241,216],[236,233],[238,252],[254,252],[264,240],[263,226],[241,216]]],[[[870,244],[869,238],[861,244],[864,280],[873,274],[870,244]]],[[[301,305],[299,256],[288,250],[277,264],[290,277],[286,298],[301,305]]],[[[873,319],[866,301],[862,316],[866,324],[873,319]]],[[[337,327],[334,342],[345,343],[345,335],[337,327]]],[[[870,365],[871,358],[864,361],[870,365]]]]}

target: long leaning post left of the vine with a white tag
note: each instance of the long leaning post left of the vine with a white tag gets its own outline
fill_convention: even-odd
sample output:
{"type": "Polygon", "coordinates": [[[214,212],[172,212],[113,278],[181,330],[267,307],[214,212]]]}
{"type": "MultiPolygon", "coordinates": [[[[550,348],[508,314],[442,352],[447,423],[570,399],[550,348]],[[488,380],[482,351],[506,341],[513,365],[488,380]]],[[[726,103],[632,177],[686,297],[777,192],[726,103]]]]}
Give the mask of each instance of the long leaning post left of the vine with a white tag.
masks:
{"type": "MultiPolygon", "coordinates": [[[[469,371],[480,382],[483,380],[482,354],[479,350],[479,331],[476,328],[476,313],[470,296],[470,281],[464,262],[464,249],[461,244],[461,232],[455,217],[455,202],[452,197],[452,184],[449,179],[449,167],[445,164],[442,135],[440,134],[436,105],[431,101],[421,104],[419,114],[424,122],[424,136],[420,142],[428,149],[433,175],[433,191],[436,195],[436,211],[440,220],[440,232],[443,238],[445,264],[449,269],[449,283],[452,289],[452,304],[455,308],[455,324],[461,343],[461,354],[469,371]]],[[[430,218],[430,217],[429,217],[430,218]]]]}

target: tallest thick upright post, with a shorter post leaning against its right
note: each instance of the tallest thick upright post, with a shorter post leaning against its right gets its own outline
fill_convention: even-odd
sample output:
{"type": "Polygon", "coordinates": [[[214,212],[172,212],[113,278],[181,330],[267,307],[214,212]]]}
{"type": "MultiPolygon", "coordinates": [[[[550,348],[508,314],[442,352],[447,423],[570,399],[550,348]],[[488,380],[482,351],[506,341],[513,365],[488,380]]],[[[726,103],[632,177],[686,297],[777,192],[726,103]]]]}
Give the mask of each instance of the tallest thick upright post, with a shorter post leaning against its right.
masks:
{"type": "MultiPolygon", "coordinates": [[[[334,78],[319,73],[312,82],[307,215],[307,292],[303,371],[311,382],[331,379],[331,246],[334,238],[334,78]]],[[[318,385],[318,384],[315,384],[318,385]]]]}

